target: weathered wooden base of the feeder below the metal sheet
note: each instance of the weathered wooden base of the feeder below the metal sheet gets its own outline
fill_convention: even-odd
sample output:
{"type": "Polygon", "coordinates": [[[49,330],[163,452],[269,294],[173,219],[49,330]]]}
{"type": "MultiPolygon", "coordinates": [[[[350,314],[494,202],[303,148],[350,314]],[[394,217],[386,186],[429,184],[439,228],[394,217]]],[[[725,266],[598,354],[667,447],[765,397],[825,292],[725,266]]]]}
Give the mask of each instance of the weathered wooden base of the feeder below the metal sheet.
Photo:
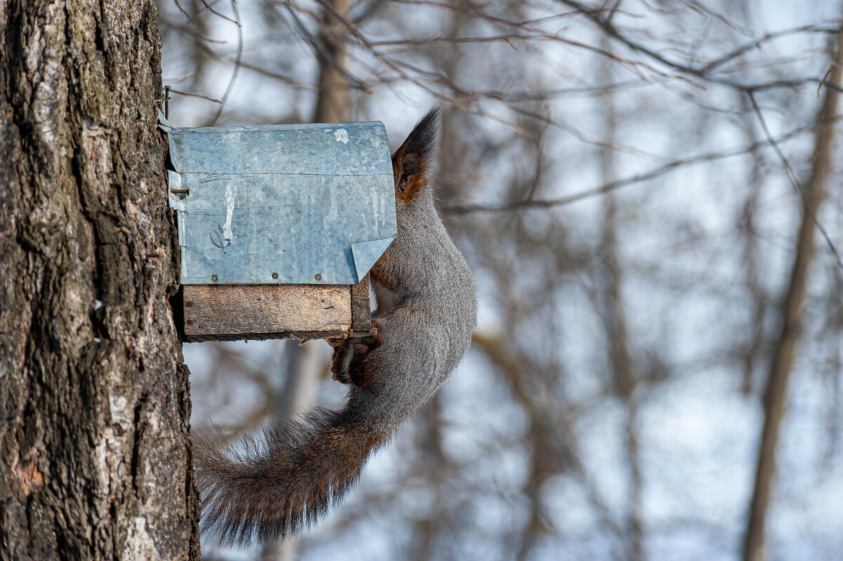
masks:
{"type": "Polygon", "coordinates": [[[371,329],[368,276],[351,286],[184,285],[182,291],[185,341],[325,339],[371,329]]]}

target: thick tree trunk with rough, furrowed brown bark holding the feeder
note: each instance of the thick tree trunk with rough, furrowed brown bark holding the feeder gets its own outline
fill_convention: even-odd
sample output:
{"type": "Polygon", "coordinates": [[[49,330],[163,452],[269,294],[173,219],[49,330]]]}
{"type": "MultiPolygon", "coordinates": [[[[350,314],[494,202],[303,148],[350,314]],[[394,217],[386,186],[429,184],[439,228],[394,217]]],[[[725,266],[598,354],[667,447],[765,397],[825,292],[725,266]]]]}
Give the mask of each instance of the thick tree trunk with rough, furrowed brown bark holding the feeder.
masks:
{"type": "Polygon", "coordinates": [[[0,0],[0,557],[196,559],[148,0],[0,0]]]}

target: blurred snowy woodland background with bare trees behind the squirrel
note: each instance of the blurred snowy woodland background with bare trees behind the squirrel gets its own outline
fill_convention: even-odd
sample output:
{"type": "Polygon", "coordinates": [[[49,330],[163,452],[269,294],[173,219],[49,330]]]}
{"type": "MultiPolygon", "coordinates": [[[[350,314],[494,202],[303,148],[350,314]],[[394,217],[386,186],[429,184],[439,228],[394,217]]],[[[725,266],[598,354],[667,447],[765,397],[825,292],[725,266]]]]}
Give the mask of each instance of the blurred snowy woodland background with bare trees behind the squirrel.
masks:
{"type": "MultiPolygon", "coordinates": [[[[327,521],[207,558],[837,559],[840,3],[159,0],[176,126],[443,105],[475,345],[327,521]],[[181,94],[180,97],[178,94],[181,94]]],[[[185,345],[194,423],[336,405],[185,345]]]]}

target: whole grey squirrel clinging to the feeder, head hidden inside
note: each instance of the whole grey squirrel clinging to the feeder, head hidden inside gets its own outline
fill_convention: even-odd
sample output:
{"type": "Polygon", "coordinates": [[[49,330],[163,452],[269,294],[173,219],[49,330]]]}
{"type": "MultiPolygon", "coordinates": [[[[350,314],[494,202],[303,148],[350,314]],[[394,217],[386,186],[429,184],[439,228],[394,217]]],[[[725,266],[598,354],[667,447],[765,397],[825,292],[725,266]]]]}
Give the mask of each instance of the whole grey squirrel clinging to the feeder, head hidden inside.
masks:
{"type": "Polygon", "coordinates": [[[248,545],[312,525],[469,349],[475,280],[438,216],[428,177],[438,119],[433,108],[392,155],[398,233],[369,271],[377,301],[373,334],[331,341],[333,377],[349,386],[343,407],[309,409],[236,451],[194,436],[206,537],[248,545]]]}

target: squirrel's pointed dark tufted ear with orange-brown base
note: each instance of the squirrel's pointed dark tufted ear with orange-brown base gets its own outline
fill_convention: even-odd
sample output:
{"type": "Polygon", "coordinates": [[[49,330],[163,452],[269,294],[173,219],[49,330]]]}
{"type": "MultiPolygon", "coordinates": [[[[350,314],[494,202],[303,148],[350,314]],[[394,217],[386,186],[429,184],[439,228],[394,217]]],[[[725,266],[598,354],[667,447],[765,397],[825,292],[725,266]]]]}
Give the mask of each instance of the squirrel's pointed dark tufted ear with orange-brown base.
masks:
{"type": "Polygon", "coordinates": [[[431,168],[439,126],[439,108],[434,107],[421,118],[416,128],[407,136],[392,155],[392,173],[395,175],[395,195],[410,200],[427,185],[427,170],[431,168]]]}

